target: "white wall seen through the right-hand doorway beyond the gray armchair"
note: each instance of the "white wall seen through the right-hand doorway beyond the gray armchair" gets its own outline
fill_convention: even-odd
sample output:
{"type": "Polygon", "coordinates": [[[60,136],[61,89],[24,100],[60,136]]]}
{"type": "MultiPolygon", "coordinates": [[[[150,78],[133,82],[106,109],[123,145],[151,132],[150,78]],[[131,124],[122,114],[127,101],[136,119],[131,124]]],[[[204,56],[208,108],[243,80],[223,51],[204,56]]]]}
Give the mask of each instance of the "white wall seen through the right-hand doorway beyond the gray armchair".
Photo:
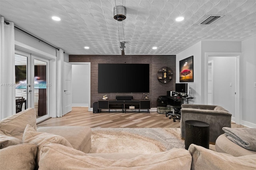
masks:
{"type": "Polygon", "coordinates": [[[212,105],[222,106],[235,117],[236,57],[209,57],[208,60],[213,62],[212,105]]]}

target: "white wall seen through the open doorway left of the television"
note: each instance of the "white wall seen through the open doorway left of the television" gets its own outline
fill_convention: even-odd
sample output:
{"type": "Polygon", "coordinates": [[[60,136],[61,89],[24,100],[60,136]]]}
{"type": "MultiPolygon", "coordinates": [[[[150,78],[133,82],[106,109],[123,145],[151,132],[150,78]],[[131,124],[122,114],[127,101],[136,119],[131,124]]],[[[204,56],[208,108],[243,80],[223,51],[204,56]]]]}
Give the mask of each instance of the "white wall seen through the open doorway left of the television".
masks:
{"type": "Polygon", "coordinates": [[[89,65],[72,65],[72,106],[90,106],[90,81],[88,80],[90,80],[89,65]]]}

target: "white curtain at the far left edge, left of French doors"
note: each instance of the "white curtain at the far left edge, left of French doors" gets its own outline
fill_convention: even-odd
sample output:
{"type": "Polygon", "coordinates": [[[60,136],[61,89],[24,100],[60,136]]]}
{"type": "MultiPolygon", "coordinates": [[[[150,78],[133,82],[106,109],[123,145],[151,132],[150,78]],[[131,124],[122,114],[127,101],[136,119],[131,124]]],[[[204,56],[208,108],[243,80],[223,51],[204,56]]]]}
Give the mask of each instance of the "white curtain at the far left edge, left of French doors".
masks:
{"type": "Polygon", "coordinates": [[[14,115],[15,109],[15,60],[14,23],[4,22],[0,16],[0,120],[14,115]]]}

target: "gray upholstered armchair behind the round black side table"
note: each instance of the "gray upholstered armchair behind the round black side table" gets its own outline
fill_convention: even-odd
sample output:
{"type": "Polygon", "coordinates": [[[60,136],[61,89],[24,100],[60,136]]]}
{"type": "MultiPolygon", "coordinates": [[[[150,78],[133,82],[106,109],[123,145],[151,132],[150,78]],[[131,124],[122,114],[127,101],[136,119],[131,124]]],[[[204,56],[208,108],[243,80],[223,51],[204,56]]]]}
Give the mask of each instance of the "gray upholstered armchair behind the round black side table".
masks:
{"type": "Polygon", "coordinates": [[[223,107],[215,105],[183,104],[181,111],[180,130],[181,137],[185,137],[185,121],[195,120],[210,125],[210,143],[215,144],[216,139],[224,134],[222,127],[231,127],[231,113],[223,107]]]}

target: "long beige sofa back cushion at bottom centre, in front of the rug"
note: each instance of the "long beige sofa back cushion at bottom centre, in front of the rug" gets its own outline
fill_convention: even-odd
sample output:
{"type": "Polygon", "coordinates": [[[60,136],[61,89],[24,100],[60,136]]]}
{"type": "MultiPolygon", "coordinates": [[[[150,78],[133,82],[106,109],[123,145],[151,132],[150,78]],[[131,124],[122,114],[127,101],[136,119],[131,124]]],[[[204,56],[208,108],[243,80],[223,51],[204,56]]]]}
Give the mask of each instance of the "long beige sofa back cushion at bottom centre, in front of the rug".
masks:
{"type": "Polygon", "coordinates": [[[84,152],[68,148],[60,144],[48,144],[40,152],[40,170],[145,170],[145,169],[171,169],[190,170],[191,155],[185,149],[174,148],[166,152],[143,154],[132,159],[105,159],[88,156],[84,152]],[[58,163],[57,163],[58,162],[58,163]]]}

